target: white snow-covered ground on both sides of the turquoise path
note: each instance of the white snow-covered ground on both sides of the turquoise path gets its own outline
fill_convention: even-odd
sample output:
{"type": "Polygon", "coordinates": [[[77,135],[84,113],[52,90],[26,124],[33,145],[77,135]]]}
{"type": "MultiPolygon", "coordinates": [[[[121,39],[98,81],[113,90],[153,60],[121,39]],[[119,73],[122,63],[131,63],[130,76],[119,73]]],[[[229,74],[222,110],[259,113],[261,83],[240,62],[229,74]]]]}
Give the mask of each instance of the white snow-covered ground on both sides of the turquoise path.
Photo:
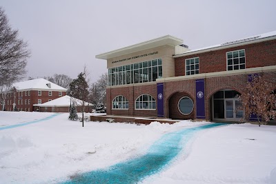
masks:
{"type": "MultiPolygon", "coordinates": [[[[0,128],[51,115],[0,112],[0,128]]],[[[85,122],[82,127],[65,113],[0,130],[0,183],[55,183],[143,154],[160,136],[204,123],[85,122]]],[[[169,167],[142,183],[273,183],[275,145],[274,126],[246,123],[204,130],[169,167]]]]}

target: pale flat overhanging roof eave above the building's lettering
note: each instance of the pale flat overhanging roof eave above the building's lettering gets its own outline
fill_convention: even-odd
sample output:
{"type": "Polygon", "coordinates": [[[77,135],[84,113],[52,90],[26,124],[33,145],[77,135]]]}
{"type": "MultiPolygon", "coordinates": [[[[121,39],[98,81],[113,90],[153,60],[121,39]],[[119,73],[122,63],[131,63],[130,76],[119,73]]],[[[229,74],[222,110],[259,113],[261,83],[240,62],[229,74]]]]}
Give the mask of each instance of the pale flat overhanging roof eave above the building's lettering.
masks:
{"type": "Polygon", "coordinates": [[[125,54],[130,54],[133,52],[139,52],[142,50],[147,50],[150,48],[157,48],[161,45],[172,45],[172,46],[176,46],[183,43],[182,39],[178,39],[177,37],[172,37],[170,35],[166,35],[164,37],[159,37],[157,39],[152,39],[149,41],[144,41],[141,43],[137,43],[135,45],[130,45],[128,47],[125,48],[120,48],[117,50],[112,50],[110,52],[106,52],[103,54],[98,54],[96,55],[97,59],[110,59],[110,58],[114,58],[114,57],[120,57],[122,55],[125,54]]]}

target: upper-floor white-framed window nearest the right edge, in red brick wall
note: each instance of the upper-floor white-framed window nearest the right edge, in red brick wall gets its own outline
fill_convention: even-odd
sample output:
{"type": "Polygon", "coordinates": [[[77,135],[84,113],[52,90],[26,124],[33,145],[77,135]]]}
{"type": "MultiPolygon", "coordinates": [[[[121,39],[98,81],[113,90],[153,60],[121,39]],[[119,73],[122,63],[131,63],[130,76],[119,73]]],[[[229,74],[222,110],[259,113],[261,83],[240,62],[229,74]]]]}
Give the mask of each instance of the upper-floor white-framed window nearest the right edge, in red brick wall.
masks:
{"type": "Polygon", "coordinates": [[[226,52],[227,70],[241,70],[246,68],[245,50],[226,52]]]}

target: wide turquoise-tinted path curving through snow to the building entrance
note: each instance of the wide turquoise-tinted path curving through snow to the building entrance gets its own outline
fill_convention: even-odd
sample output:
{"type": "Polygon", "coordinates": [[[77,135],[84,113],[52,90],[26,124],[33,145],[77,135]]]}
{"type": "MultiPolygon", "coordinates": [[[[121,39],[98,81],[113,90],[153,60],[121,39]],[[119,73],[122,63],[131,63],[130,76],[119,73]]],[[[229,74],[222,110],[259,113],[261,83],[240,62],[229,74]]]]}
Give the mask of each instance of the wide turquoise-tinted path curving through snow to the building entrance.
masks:
{"type": "Polygon", "coordinates": [[[175,159],[177,154],[185,149],[186,143],[193,138],[195,133],[221,125],[226,124],[215,123],[201,125],[165,134],[161,139],[155,141],[155,143],[150,146],[148,152],[143,156],[112,165],[105,170],[95,170],[70,176],[71,179],[62,184],[137,183],[147,176],[157,174],[157,172],[160,172],[164,167],[168,166],[168,164],[175,159]]]}

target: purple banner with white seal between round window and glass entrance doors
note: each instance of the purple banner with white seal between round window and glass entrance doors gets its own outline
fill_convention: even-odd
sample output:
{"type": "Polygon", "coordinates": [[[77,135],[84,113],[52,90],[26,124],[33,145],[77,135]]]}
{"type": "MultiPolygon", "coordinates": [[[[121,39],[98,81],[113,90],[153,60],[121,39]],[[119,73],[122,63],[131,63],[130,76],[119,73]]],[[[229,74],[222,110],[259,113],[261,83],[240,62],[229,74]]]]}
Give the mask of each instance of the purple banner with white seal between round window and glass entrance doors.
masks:
{"type": "Polygon", "coordinates": [[[196,101],[197,101],[197,119],[206,119],[205,117],[205,91],[204,79],[197,79],[195,81],[196,101]]]}

